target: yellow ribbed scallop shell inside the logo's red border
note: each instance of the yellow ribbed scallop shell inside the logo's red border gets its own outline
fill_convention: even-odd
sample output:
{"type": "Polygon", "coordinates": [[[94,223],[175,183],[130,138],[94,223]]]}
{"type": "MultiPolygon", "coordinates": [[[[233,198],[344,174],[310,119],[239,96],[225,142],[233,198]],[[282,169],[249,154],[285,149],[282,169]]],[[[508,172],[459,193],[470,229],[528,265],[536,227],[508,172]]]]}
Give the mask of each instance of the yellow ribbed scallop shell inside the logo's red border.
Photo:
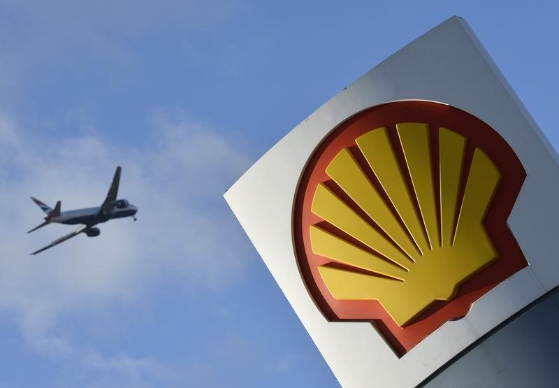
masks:
{"type": "Polygon", "coordinates": [[[361,166],[349,148],[334,157],[326,173],[351,201],[320,183],[312,213],[351,238],[315,224],[310,240],[315,254],[344,264],[319,266],[335,299],[377,300],[405,326],[433,301],[452,299],[460,284],[498,258],[483,222],[501,175],[480,148],[465,165],[466,138],[451,129],[439,129],[437,168],[428,124],[400,123],[396,129],[405,165],[398,162],[385,127],[356,139],[368,166],[361,166]]]}

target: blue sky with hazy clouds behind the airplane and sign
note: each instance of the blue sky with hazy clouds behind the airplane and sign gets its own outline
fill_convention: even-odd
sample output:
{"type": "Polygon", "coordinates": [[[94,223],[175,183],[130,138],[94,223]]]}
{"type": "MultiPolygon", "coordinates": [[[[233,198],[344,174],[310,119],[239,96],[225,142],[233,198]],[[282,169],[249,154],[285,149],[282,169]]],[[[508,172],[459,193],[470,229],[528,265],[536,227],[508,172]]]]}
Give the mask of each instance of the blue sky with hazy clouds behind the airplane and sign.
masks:
{"type": "Polygon", "coordinates": [[[451,15],[551,143],[559,6],[0,1],[0,388],[336,387],[222,194],[344,86],[451,15]],[[31,235],[37,196],[138,222],[31,235]]]}

